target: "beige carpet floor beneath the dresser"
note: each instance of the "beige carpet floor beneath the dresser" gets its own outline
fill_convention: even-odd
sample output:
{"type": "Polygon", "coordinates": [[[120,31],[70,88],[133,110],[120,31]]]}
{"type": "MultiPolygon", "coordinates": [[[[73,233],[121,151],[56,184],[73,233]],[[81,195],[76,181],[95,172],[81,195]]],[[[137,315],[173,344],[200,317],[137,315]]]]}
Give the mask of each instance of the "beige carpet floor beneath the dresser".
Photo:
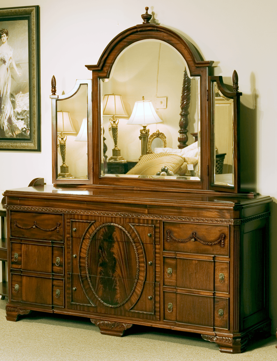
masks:
{"type": "Polygon", "coordinates": [[[200,335],[133,326],[126,336],[101,335],[89,319],[33,312],[6,321],[0,300],[0,360],[40,361],[276,361],[274,336],[238,355],[220,353],[200,335]]]}

